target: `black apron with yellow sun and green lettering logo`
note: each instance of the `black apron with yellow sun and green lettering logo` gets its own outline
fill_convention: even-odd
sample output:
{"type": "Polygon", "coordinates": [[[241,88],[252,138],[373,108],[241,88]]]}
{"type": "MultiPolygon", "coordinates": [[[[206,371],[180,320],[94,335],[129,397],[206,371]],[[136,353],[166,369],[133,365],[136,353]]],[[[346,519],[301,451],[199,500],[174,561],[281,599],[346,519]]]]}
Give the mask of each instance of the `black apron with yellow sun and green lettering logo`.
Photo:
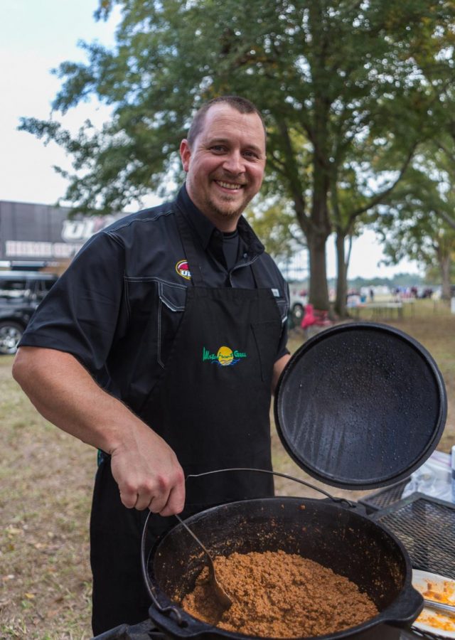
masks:
{"type": "MultiPolygon", "coordinates": [[[[176,452],[186,476],[230,467],[272,469],[269,407],[282,332],[277,303],[270,289],[261,288],[254,264],[257,289],[205,287],[191,230],[181,212],[176,215],[193,286],[163,374],[142,407],[133,408],[176,452]]],[[[188,479],[183,515],[272,495],[267,474],[188,479]]],[[[122,505],[105,457],[90,521],[95,634],[148,615],[140,564],[146,514],[122,505]]],[[[161,535],[175,523],[152,516],[151,533],[161,535]]]]}

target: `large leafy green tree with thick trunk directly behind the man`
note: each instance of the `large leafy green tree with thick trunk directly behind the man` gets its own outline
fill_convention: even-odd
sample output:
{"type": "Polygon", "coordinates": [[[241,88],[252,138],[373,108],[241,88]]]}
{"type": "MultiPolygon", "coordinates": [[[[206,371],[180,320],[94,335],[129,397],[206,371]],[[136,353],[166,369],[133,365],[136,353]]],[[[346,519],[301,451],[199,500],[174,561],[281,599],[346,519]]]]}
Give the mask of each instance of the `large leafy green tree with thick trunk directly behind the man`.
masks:
{"type": "Polygon", "coordinates": [[[87,122],[72,137],[56,122],[23,120],[73,156],[65,197],[110,211],[166,191],[193,109],[215,95],[245,95],[267,120],[269,193],[292,203],[309,247],[310,299],[327,309],[330,197],[341,169],[373,129],[378,139],[405,131],[406,154],[425,135],[435,98],[422,65],[432,78],[453,75],[439,53],[453,33],[454,3],[249,0],[240,11],[233,0],[102,0],[97,17],[114,4],[123,16],[117,45],[85,45],[87,64],[60,65],[53,105],[65,112],[97,95],[112,106],[110,122],[101,132],[87,122]]]}

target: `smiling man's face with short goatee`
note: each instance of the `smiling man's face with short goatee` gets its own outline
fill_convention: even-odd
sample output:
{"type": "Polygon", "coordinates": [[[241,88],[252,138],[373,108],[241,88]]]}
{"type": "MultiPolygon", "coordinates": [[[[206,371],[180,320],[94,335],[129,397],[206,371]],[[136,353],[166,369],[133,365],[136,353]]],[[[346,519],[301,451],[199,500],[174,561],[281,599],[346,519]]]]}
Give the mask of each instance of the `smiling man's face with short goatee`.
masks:
{"type": "Polygon", "coordinates": [[[215,104],[193,147],[183,140],[180,154],[193,203],[220,230],[234,230],[264,176],[265,134],[259,116],[215,104]]]}

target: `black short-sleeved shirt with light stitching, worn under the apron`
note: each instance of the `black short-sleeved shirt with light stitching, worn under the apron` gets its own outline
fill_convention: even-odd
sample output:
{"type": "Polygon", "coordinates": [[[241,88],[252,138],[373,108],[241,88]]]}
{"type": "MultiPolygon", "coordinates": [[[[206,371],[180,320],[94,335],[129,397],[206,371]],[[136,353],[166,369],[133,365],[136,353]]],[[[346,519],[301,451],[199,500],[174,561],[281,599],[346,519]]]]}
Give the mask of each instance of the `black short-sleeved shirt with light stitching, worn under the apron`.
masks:
{"type": "Polygon", "coordinates": [[[255,263],[282,317],[277,359],[288,353],[289,292],[274,261],[240,218],[237,264],[228,272],[223,234],[185,186],[176,203],[128,215],[92,236],[38,307],[19,346],[71,353],[103,388],[139,410],[164,368],[191,286],[176,204],[191,225],[207,286],[254,289],[255,263]]]}

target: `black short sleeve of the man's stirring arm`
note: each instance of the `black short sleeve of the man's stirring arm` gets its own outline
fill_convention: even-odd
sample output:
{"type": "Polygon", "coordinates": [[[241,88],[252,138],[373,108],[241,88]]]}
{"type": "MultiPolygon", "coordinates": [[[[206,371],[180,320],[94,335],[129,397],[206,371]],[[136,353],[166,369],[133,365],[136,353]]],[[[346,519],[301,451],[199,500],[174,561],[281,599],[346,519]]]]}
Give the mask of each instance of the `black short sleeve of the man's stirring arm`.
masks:
{"type": "Polygon", "coordinates": [[[88,240],[50,289],[19,346],[58,349],[98,377],[122,324],[124,250],[107,233],[88,240]]]}

